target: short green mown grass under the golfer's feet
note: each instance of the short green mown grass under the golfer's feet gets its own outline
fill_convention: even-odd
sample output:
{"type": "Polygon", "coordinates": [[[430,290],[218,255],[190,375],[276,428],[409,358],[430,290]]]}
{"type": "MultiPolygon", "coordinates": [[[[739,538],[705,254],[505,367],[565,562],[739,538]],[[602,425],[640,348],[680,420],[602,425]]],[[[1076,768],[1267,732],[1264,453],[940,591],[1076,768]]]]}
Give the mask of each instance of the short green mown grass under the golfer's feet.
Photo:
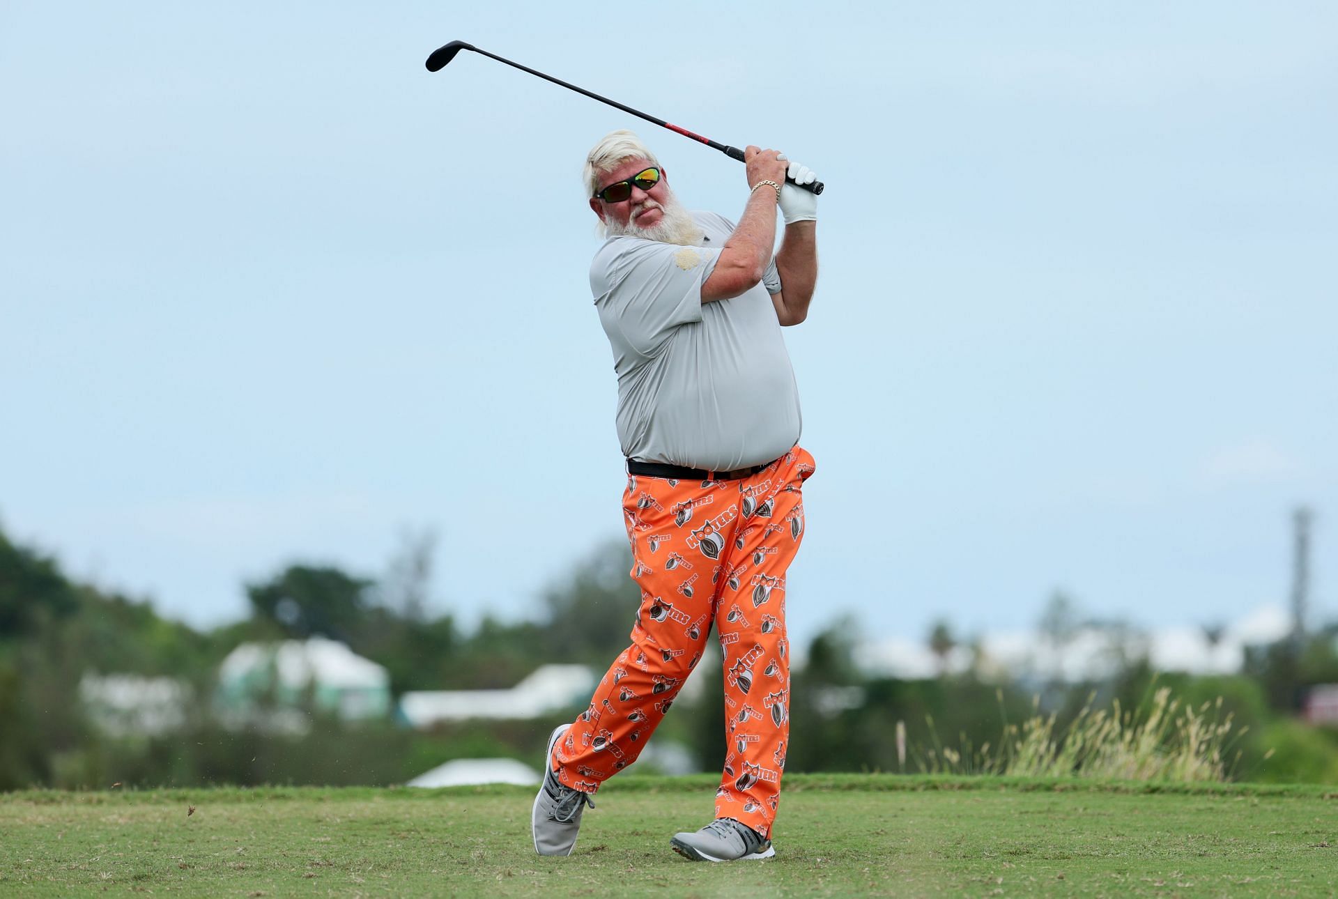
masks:
{"type": "Polygon", "coordinates": [[[791,775],[773,860],[690,863],[669,836],[713,788],[610,781],[566,859],[534,855],[520,788],[9,793],[0,895],[1338,892],[1338,788],[791,775]]]}

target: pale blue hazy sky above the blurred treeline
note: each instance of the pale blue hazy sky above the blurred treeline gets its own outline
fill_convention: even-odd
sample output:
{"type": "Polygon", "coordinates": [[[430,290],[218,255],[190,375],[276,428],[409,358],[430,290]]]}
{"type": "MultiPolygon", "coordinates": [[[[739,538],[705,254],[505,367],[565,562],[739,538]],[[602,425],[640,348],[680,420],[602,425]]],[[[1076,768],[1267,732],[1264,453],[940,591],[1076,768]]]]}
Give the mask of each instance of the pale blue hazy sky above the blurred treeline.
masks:
{"type": "Polygon", "coordinates": [[[581,163],[827,183],[792,635],[1338,617],[1330,3],[0,4],[0,527],[206,627],[290,563],[535,614],[622,539],[581,163]]]}

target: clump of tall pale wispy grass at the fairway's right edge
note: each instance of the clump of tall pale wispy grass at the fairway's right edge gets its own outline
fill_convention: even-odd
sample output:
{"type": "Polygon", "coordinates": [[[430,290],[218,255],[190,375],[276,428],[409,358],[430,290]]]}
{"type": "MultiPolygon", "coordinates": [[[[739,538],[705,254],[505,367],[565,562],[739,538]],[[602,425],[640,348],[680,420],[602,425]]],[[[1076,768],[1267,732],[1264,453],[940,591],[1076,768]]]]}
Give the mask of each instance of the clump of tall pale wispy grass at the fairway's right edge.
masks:
{"type": "MultiPolygon", "coordinates": [[[[1004,694],[998,693],[1002,712],[1004,694]]],[[[1017,775],[1028,777],[1098,777],[1105,780],[1224,781],[1240,759],[1228,760],[1231,746],[1248,728],[1232,732],[1232,716],[1222,714],[1222,697],[1198,709],[1171,698],[1160,688],[1143,713],[1124,710],[1115,700],[1109,709],[1093,709],[1096,694],[1064,729],[1057,716],[1033,716],[1009,724],[997,744],[975,748],[962,734],[961,746],[945,746],[929,718],[933,745],[919,749],[917,763],[934,775],[1017,775]]],[[[1272,755],[1270,749],[1264,757],[1272,755]]]]}

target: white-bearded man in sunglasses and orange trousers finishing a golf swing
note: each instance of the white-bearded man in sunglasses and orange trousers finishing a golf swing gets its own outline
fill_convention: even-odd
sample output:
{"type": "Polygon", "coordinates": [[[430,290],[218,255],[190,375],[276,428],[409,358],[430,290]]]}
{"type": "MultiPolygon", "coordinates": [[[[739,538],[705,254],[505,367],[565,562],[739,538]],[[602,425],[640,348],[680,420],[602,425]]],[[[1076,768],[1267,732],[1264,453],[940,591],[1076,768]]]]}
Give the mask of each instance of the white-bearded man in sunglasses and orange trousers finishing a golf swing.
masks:
{"type": "Polygon", "coordinates": [[[680,206],[630,131],[590,151],[586,195],[606,235],[590,266],[618,376],[628,459],[622,514],[641,607],[632,645],[590,706],[549,737],[534,848],[570,855],[599,784],[636,761],[701,661],[714,625],[728,755],[714,820],[673,836],[704,862],[775,855],[789,741],[785,570],[804,534],[814,460],[797,444],[799,395],[783,325],[808,314],[818,277],[815,174],[748,147],[737,225],[680,206]],[[776,206],[785,221],[780,252],[776,206]]]}

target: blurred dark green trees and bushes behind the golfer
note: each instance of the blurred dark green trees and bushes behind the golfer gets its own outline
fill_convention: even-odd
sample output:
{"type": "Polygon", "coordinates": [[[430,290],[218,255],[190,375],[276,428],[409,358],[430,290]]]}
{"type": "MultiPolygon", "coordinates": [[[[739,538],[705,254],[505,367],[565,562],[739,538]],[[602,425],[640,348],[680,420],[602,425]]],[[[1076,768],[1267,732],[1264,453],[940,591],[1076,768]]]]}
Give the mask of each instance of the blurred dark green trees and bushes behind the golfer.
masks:
{"type": "MultiPolygon", "coordinates": [[[[292,565],[244,585],[250,614],[211,630],[159,617],[142,599],[82,585],[59,563],[0,532],[0,789],[31,785],[391,784],[455,757],[535,763],[537,746],[575,709],[538,721],[466,721],[419,733],[393,721],[349,725],[308,709],[302,734],[229,730],[211,713],[223,657],[244,641],[326,635],[385,666],[395,696],[405,690],[510,688],[539,664],[603,670],[626,645],[640,593],[625,544],[595,547],[538,597],[526,621],[484,617],[466,633],[452,614],[428,614],[429,540],[405,547],[391,575],[373,579],[332,566],[292,565]],[[182,728],[159,736],[111,737],[79,701],[86,673],[171,677],[195,697],[182,728]]],[[[1073,609],[1048,610],[1045,626],[1072,629],[1073,609]]],[[[1295,685],[1338,681],[1335,629],[1303,646],[1250,654],[1231,677],[1153,673],[1132,657],[1103,682],[1036,685],[985,677],[974,666],[937,677],[871,677],[854,662],[858,623],[835,622],[792,673],[788,771],[915,772],[926,748],[966,749],[997,741],[1002,728],[1037,712],[1062,729],[1094,696],[1125,709],[1153,686],[1184,702],[1232,716],[1232,775],[1247,780],[1338,780],[1338,734],[1302,724],[1288,706],[1295,685]],[[898,730],[904,738],[898,740],[898,730]]],[[[938,622],[927,645],[946,660],[955,641],[938,622]]],[[[719,660],[719,657],[717,657],[719,660]]],[[[704,769],[724,757],[721,673],[710,657],[698,708],[676,704],[657,732],[688,745],[704,769]],[[680,710],[681,705],[681,710],[680,710]]]]}

